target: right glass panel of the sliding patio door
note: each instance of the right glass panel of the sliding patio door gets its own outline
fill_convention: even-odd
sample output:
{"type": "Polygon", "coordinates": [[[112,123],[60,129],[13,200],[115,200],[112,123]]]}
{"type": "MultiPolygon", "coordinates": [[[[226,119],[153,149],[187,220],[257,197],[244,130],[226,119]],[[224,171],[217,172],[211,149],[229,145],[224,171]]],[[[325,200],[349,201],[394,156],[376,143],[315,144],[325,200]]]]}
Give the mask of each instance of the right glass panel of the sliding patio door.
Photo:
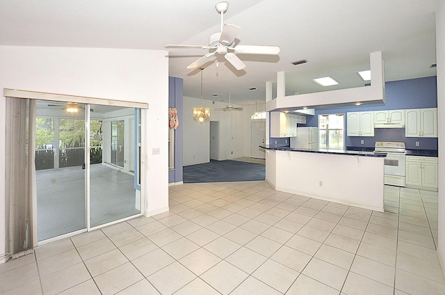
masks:
{"type": "Polygon", "coordinates": [[[90,227],[93,228],[140,214],[140,198],[136,198],[134,188],[135,110],[98,105],[92,105],[91,109],[94,110],[90,112],[90,227]]]}

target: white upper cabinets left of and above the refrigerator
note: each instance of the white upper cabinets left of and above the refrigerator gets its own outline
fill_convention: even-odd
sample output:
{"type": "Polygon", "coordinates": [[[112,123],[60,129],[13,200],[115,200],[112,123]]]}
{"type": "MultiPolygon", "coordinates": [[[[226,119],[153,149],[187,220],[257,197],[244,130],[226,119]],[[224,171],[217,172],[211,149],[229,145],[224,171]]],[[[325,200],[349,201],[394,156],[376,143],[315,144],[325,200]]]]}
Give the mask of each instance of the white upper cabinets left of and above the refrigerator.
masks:
{"type": "Polygon", "coordinates": [[[297,123],[306,123],[304,115],[270,112],[270,137],[297,136],[297,123]]]}

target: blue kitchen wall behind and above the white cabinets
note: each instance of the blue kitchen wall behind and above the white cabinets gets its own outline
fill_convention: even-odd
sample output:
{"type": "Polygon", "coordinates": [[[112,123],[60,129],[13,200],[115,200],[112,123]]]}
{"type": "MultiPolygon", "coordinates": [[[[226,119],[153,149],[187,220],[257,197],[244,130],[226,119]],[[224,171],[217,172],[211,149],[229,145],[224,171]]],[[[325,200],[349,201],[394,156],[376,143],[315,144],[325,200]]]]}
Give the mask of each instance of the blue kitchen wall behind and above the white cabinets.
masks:
{"type": "MultiPolygon", "coordinates": [[[[344,113],[346,115],[351,111],[437,108],[436,77],[386,82],[385,96],[385,104],[316,109],[315,115],[313,117],[308,115],[306,124],[298,124],[298,127],[316,127],[318,125],[318,114],[344,113]]],[[[359,97],[357,97],[357,100],[360,100],[359,97]]],[[[345,117],[345,126],[346,120],[345,117]]],[[[373,148],[375,141],[403,141],[406,148],[410,150],[437,150],[438,148],[437,138],[405,137],[405,128],[375,129],[374,133],[375,136],[373,137],[346,136],[345,145],[355,148],[373,148]],[[360,143],[361,140],[364,140],[363,145],[360,143]],[[419,141],[419,147],[416,147],[416,141],[419,141]]],[[[275,140],[275,138],[270,138],[270,140],[275,140]]],[[[270,143],[272,142],[270,141],[270,143]]]]}

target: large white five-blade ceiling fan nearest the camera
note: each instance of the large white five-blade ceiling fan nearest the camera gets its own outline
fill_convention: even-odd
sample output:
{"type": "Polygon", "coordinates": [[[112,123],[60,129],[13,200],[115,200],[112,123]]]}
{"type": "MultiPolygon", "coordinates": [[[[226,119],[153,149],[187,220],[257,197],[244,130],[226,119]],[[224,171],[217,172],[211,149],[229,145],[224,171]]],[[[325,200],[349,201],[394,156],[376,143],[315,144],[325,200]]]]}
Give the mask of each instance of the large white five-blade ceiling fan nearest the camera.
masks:
{"type": "Polygon", "coordinates": [[[209,45],[165,45],[165,48],[199,48],[209,49],[209,53],[205,54],[197,61],[187,66],[188,69],[200,67],[213,58],[216,54],[224,54],[224,58],[232,64],[236,70],[243,70],[246,65],[236,54],[278,54],[280,47],[266,45],[234,45],[236,34],[241,30],[239,26],[234,24],[224,24],[224,13],[229,8],[229,3],[218,2],[215,5],[216,11],[221,15],[221,31],[213,33],[210,36],[209,45]]]}

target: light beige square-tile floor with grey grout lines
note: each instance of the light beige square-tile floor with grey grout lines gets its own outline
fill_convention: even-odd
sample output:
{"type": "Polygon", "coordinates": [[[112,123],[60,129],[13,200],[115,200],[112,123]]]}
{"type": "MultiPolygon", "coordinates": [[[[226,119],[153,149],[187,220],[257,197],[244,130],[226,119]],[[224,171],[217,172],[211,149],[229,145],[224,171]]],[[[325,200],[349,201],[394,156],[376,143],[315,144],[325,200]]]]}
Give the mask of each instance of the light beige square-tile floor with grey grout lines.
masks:
{"type": "Polygon", "coordinates": [[[387,186],[385,207],[266,182],[170,186],[170,212],[0,264],[0,293],[445,294],[437,193],[387,186]]]}

